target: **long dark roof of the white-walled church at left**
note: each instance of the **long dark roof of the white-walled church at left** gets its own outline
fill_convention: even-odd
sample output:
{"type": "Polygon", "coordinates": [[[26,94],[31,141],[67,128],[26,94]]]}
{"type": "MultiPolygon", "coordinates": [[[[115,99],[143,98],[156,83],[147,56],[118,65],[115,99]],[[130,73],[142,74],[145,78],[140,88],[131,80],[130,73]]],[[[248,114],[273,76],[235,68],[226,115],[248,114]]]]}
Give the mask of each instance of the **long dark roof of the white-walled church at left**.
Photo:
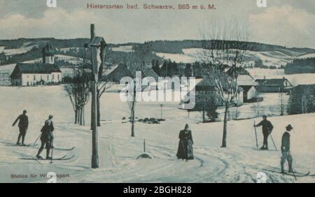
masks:
{"type": "Polygon", "coordinates": [[[15,72],[19,71],[22,74],[50,74],[50,73],[62,73],[58,66],[53,64],[42,64],[42,63],[34,63],[34,64],[26,64],[26,63],[18,63],[16,64],[11,76],[15,74],[15,72]]]}

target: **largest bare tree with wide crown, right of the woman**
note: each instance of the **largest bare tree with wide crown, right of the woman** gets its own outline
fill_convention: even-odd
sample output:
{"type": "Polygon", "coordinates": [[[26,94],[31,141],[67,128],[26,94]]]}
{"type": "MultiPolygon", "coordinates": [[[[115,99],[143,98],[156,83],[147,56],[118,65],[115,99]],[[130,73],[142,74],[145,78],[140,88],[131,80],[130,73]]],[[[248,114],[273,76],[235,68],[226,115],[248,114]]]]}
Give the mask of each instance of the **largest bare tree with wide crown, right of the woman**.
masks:
{"type": "Polygon", "coordinates": [[[204,75],[216,86],[225,106],[221,147],[227,147],[228,112],[239,94],[239,68],[246,64],[248,50],[251,50],[253,45],[247,42],[248,35],[237,22],[225,26],[211,24],[210,31],[204,31],[202,36],[204,50],[200,54],[204,75]]]}

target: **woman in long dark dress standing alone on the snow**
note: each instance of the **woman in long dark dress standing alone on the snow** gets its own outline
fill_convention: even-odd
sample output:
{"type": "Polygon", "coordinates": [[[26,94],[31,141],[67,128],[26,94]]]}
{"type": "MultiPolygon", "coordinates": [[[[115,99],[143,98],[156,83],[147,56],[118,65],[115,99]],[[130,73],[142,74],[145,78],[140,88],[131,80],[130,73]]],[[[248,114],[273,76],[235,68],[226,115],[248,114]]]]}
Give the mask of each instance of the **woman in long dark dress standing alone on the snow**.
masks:
{"type": "Polygon", "coordinates": [[[186,124],[185,129],[179,132],[179,149],[177,150],[178,159],[194,159],[193,154],[193,136],[189,129],[188,124],[186,124]]]}

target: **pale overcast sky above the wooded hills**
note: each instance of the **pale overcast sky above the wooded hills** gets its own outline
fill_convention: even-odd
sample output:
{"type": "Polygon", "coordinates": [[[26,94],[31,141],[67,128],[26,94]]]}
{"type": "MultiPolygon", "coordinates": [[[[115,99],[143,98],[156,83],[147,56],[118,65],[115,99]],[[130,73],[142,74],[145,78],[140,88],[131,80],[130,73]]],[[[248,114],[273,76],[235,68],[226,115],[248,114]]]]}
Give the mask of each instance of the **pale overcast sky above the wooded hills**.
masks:
{"type": "Polygon", "coordinates": [[[315,48],[314,0],[0,0],[0,39],[88,38],[90,23],[107,43],[200,39],[200,29],[213,21],[238,20],[248,27],[251,41],[288,47],[315,48]],[[88,10],[87,3],[174,5],[213,3],[216,10],[88,10]]]}

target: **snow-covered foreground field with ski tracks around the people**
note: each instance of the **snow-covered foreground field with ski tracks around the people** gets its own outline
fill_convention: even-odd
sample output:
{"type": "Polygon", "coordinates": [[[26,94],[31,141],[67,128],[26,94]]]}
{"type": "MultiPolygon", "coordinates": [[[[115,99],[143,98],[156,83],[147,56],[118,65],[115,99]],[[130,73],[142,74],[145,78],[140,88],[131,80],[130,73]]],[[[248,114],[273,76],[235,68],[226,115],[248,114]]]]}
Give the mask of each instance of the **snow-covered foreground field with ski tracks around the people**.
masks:
{"type": "MultiPolygon", "coordinates": [[[[255,151],[253,119],[228,122],[228,148],[220,148],[223,123],[200,123],[200,113],[179,110],[177,103],[163,103],[161,124],[135,124],[135,138],[130,138],[130,123],[123,117],[130,115],[127,103],[119,94],[106,93],[102,97],[102,127],[99,128],[99,168],[91,169],[90,126],[73,124],[73,110],[62,86],[55,87],[0,87],[0,182],[46,182],[48,179],[27,177],[11,179],[10,175],[29,175],[50,171],[69,177],[57,182],[256,182],[262,168],[279,168],[279,151],[255,151]],[[15,143],[18,128],[14,119],[27,109],[29,129],[26,143],[33,143],[49,114],[55,115],[55,147],[73,147],[69,152],[54,151],[54,156],[75,157],[69,161],[26,161],[21,157],[35,156],[37,147],[8,146],[15,143]],[[190,124],[194,139],[195,160],[178,161],[176,149],[179,131],[190,124]],[[139,159],[143,139],[153,159],[139,159]],[[5,169],[5,170],[4,170],[5,169]]],[[[85,122],[90,122],[90,104],[85,110],[85,122]]],[[[160,118],[160,103],[139,102],[136,117],[160,118]]],[[[274,124],[272,136],[279,149],[281,135],[287,124],[294,127],[291,133],[293,168],[296,171],[315,173],[314,114],[270,117],[274,124]]],[[[260,118],[255,119],[256,122],[260,118]]],[[[258,129],[258,143],[262,133],[258,129]]],[[[269,139],[269,148],[273,149],[269,139]]],[[[43,153],[44,156],[44,153],[43,153]]],[[[287,166],[286,166],[287,168],[287,166]]],[[[315,177],[293,177],[276,173],[267,174],[267,182],[315,182],[315,177]]]]}

